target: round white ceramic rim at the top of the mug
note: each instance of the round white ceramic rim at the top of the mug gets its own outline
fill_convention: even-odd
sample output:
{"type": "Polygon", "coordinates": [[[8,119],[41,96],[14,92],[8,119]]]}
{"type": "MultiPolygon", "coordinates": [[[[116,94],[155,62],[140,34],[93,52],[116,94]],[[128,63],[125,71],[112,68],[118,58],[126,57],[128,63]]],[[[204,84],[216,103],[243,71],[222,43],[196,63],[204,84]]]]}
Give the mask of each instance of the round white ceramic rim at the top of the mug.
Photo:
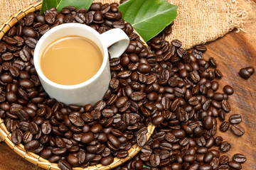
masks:
{"type": "MultiPolygon", "coordinates": [[[[101,42],[101,45],[102,45],[102,48],[103,48],[103,52],[102,52],[102,56],[103,56],[103,62],[102,62],[102,65],[100,67],[100,69],[97,71],[97,73],[91,77],[90,79],[88,79],[87,81],[85,82],[82,82],[80,84],[75,84],[75,85],[63,85],[63,84],[57,84],[53,81],[50,81],[50,79],[48,79],[42,72],[41,70],[41,67],[40,67],[40,60],[39,58],[41,58],[41,55],[38,54],[38,51],[39,51],[39,48],[41,47],[41,45],[43,44],[43,41],[46,40],[46,38],[48,38],[51,34],[57,32],[59,29],[61,28],[82,28],[82,29],[85,29],[85,31],[89,31],[90,33],[92,33],[93,35],[95,35],[96,38],[98,38],[100,40],[100,33],[98,33],[95,29],[93,28],[90,28],[90,26],[86,26],[84,24],[81,24],[81,23],[65,23],[65,24],[61,24],[59,26],[55,26],[54,28],[51,28],[50,30],[48,30],[39,40],[38,40],[38,43],[36,44],[36,48],[35,48],[35,51],[34,51],[34,56],[33,56],[33,60],[34,60],[34,66],[36,68],[36,72],[38,74],[39,77],[41,77],[41,79],[43,79],[44,81],[46,81],[46,83],[50,84],[50,86],[55,86],[55,87],[58,87],[59,89],[79,89],[81,88],[82,86],[86,86],[87,84],[91,84],[93,81],[95,81],[95,79],[97,79],[100,74],[102,72],[104,72],[104,69],[107,65],[107,60],[108,60],[108,52],[107,52],[107,46],[102,44],[102,41],[100,40],[101,42]],[[35,57],[35,55],[37,55],[37,57],[35,57]]],[[[73,34],[70,34],[70,35],[73,35],[73,34]]],[[[57,38],[58,39],[58,38],[57,38]]],[[[55,40],[57,40],[55,39],[55,40]]],[[[54,41],[54,40],[53,40],[54,41]]],[[[94,41],[92,41],[94,42],[94,41]]],[[[98,45],[97,43],[95,43],[96,45],[98,45]]],[[[98,45],[99,46],[99,45],[98,45]]]]}

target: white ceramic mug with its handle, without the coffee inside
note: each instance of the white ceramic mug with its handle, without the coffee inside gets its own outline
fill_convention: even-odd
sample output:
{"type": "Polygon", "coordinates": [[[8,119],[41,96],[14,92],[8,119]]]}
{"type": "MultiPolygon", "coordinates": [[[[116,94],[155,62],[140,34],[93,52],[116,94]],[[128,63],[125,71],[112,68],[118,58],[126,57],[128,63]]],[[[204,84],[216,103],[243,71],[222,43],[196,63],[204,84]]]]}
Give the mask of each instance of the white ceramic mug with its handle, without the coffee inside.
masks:
{"type": "Polygon", "coordinates": [[[50,98],[55,98],[57,101],[63,102],[66,105],[78,104],[83,106],[87,103],[94,105],[97,101],[102,100],[110,84],[111,72],[108,52],[110,52],[112,58],[119,57],[127,49],[128,45],[128,36],[119,28],[100,34],[93,28],[90,28],[90,26],[80,23],[65,23],[48,30],[38,40],[33,60],[43,89],[45,89],[50,98]],[[88,38],[92,42],[95,42],[102,52],[103,62],[99,71],[92,78],[81,84],[56,84],[50,81],[41,70],[40,61],[43,50],[50,42],[68,35],[78,35],[88,38]],[[109,49],[107,49],[108,47],[109,49]]]}

